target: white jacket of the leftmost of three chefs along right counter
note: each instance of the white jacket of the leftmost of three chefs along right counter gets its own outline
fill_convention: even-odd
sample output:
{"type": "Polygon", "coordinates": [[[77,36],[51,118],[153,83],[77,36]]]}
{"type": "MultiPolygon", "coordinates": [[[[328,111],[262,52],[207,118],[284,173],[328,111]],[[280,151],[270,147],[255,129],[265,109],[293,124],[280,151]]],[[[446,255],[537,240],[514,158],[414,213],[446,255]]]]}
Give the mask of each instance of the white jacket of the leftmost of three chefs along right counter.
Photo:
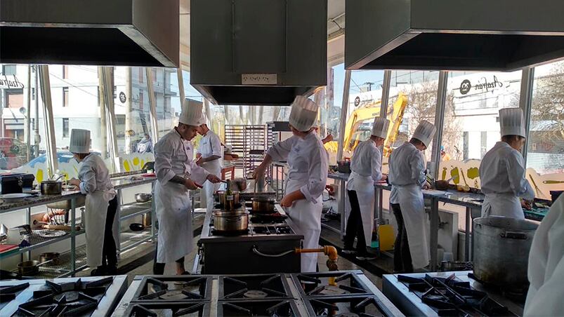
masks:
{"type": "Polygon", "coordinates": [[[372,176],[374,182],[382,179],[380,150],[372,140],[360,142],[350,158],[350,170],[361,176],[372,176]]]}

